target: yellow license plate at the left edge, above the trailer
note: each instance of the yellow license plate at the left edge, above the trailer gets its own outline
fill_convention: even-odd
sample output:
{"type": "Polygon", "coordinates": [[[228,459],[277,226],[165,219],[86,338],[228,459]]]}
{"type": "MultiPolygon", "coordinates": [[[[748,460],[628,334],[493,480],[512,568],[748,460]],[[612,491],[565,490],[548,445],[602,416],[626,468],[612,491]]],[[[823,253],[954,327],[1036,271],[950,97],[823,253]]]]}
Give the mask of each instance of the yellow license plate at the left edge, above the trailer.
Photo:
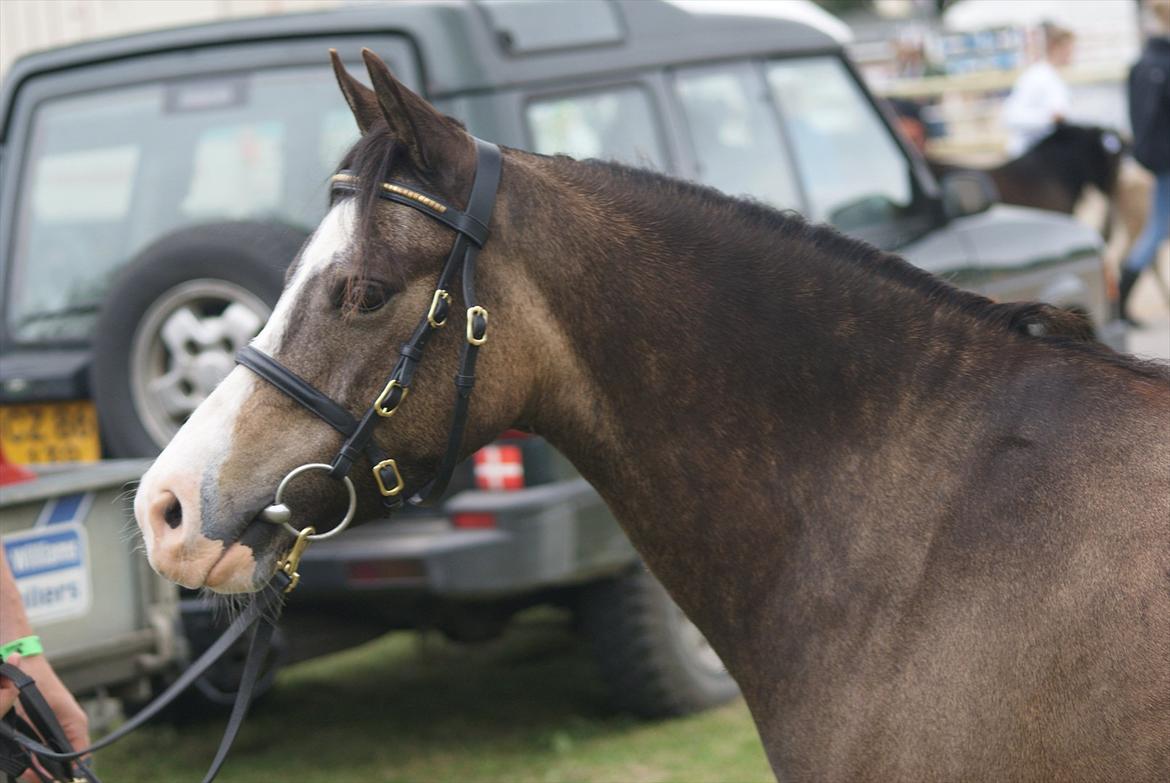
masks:
{"type": "Polygon", "coordinates": [[[89,400],[0,405],[0,445],[16,465],[95,462],[102,456],[89,400]]]}

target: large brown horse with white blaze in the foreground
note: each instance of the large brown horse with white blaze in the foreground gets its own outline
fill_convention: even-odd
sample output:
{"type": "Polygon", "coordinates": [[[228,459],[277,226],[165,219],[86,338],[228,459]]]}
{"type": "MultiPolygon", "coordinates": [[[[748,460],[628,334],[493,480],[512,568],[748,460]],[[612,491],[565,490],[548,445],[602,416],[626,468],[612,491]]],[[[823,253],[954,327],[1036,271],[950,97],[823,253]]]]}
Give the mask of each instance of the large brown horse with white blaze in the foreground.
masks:
{"type": "Polygon", "coordinates": [[[707,636],[780,778],[1170,779],[1170,370],[790,213],[500,151],[363,56],[372,89],[333,53],[362,137],[326,217],[138,488],[154,569],[259,590],[292,545],[269,522],[378,516],[450,442],[524,430],[707,636]],[[351,483],[297,467],[332,454],[351,483]]]}

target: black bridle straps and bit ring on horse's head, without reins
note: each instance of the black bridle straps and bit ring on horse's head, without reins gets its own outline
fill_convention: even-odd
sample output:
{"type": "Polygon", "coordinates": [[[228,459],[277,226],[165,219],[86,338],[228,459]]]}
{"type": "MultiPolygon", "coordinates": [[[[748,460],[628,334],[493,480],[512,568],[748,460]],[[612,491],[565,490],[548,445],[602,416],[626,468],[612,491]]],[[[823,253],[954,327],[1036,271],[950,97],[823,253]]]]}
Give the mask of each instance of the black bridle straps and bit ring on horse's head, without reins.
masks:
{"type": "MultiPolygon", "coordinates": [[[[467,200],[467,210],[463,212],[441,199],[420,193],[405,185],[393,181],[379,183],[378,195],[380,198],[418,210],[454,229],[456,235],[447,262],[439,275],[429,309],[419,325],[414,328],[411,338],[399,350],[398,363],[383,386],[381,393],[360,419],[355,418],[343,405],[330,399],[308,380],[255,346],[246,345],[236,353],[236,362],[345,435],[345,442],[342,444],[342,448],[331,463],[328,466],[324,463],[312,465],[311,467],[328,471],[333,479],[346,482],[350,492],[350,510],[346,514],[346,523],[352,517],[356,504],[349,473],[355,461],[363,454],[372,466],[373,480],[383,496],[383,504],[388,509],[402,504],[402,489],[405,487],[402,475],[398,469],[398,463],[374,441],[373,431],[380,419],[394,415],[406,399],[411,390],[411,382],[414,379],[414,372],[422,360],[427,342],[434,332],[447,323],[452,308],[450,283],[462,266],[467,329],[460,352],[459,372],[455,375],[455,412],[447,437],[447,451],[434,478],[415,493],[410,502],[414,506],[429,506],[438,501],[447,489],[459,461],[459,449],[463,442],[463,431],[467,427],[472,387],[475,385],[475,359],[480,346],[488,339],[488,311],[475,303],[475,257],[488,241],[488,224],[491,220],[491,208],[495,206],[496,190],[500,185],[500,147],[489,142],[475,139],[475,180],[472,184],[472,194],[467,200]]],[[[349,171],[335,174],[331,184],[335,192],[358,190],[358,180],[349,171]]],[[[301,466],[296,471],[300,472],[308,467],[310,466],[301,466]]],[[[281,483],[282,489],[291,478],[292,474],[285,476],[285,481],[281,483]]],[[[287,524],[288,516],[288,509],[280,504],[278,497],[276,504],[269,507],[264,513],[264,518],[275,523],[287,524]]],[[[338,528],[340,527],[344,524],[338,526],[338,528]]],[[[294,534],[298,533],[295,529],[289,529],[294,534]]],[[[337,528],[335,530],[339,531],[337,528]]]]}

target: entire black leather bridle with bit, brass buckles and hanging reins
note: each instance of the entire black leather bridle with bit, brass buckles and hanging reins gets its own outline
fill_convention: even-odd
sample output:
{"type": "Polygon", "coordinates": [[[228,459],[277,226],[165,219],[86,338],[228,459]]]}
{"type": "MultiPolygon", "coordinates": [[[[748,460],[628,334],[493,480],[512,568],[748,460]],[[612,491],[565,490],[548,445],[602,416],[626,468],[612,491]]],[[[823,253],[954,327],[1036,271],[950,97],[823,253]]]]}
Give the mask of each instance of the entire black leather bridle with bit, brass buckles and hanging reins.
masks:
{"type": "MultiPolygon", "coordinates": [[[[219,660],[238,639],[253,630],[248,658],[240,678],[232,715],[228,717],[223,737],[215,753],[211,768],[204,777],[204,783],[215,779],[227,758],[228,750],[235,741],[243,719],[252,702],[252,692],[260,676],[262,662],[268,654],[268,647],[276,630],[276,621],[283,607],[283,596],[296,588],[300,582],[297,565],[305,548],[312,541],[330,538],[342,533],[357,510],[357,492],[349,474],[353,463],[363,454],[370,460],[374,483],[387,509],[402,506],[401,493],[405,488],[402,475],[395,460],[386,455],[373,439],[373,431],[379,419],[388,419],[398,412],[411,389],[411,382],[422,360],[422,353],[431,336],[441,329],[450,315],[450,283],[456,270],[462,268],[463,300],[467,304],[467,328],[464,343],[460,351],[459,372],[455,375],[455,411],[452,415],[450,432],[447,437],[447,451],[443,454],[435,476],[422,487],[410,502],[414,506],[432,506],[447,489],[450,476],[459,461],[459,451],[463,442],[463,431],[467,428],[467,415],[475,386],[475,362],[480,346],[488,339],[488,311],[476,304],[475,297],[475,260],[480,249],[488,241],[488,224],[495,206],[496,191],[500,186],[502,160],[500,147],[482,139],[475,139],[476,166],[472,194],[467,201],[467,211],[461,212],[442,200],[406,187],[398,183],[379,183],[378,197],[395,204],[401,204],[434,218],[456,232],[455,242],[447,256],[431,307],[419,322],[410,339],[399,350],[398,363],[390,373],[381,393],[366,410],[360,419],[353,417],[344,406],[318,391],[308,380],[285,368],[263,351],[246,345],[236,355],[236,362],[248,368],[261,378],[276,386],[331,427],[345,435],[345,441],[332,462],[311,462],[294,468],[276,487],[273,503],[266,508],[260,518],[271,524],[282,526],[291,533],[296,541],[289,552],[276,564],[276,572],[262,588],[248,607],[235,618],[227,631],[208,647],[183,675],[176,680],[150,705],[143,708],[131,720],[116,732],[102,737],[94,744],[81,750],[74,750],[61,729],[60,722],[48,703],[36,688],[35,682],[15,666],[0,664],[0,675],[12,679],[20,689],[21,706],[29,715],[34,726],[15,715],[15,712],[0,721],[0,772],[18,776],[29,767],[29,756],[35,757],[53,777],[46,778],[35,767],[32,769],[42,779],[73,781],[74,783],[99,783],[97,776],[81,761],[95,750],[101,750],[135,729],[139,728],[198,680],[216,660],[219,660]],[[282,502],[284,490],[295,478],[309,471],[325,471],[329,475],[345,485],[349,494],[349,508],[342,521],[326,533],[318,534],[315,528],[297,530],[289,520],[291,510],[282,502]],[[40,733],[46,742],[34,740],[32,735],[40,733]],[[9,764],[11,762],[11,764],[9,764]]],[[[357,179],[347,171],[338,172],[331,180],[333,191],[353,192],[358,187],[357,179]]]]}

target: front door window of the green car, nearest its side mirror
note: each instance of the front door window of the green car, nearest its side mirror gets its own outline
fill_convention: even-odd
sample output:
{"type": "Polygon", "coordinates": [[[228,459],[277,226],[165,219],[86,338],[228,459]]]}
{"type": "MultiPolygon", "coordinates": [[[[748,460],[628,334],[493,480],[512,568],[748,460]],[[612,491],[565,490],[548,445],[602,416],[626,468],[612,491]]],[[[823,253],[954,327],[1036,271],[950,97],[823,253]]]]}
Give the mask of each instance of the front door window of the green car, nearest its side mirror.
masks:
{"type": "Polygon", "coordinates": [[[913,206],[909,162],[840,60],[783,60],[766,70],[813,219],[856,231],[913,206]]]}

